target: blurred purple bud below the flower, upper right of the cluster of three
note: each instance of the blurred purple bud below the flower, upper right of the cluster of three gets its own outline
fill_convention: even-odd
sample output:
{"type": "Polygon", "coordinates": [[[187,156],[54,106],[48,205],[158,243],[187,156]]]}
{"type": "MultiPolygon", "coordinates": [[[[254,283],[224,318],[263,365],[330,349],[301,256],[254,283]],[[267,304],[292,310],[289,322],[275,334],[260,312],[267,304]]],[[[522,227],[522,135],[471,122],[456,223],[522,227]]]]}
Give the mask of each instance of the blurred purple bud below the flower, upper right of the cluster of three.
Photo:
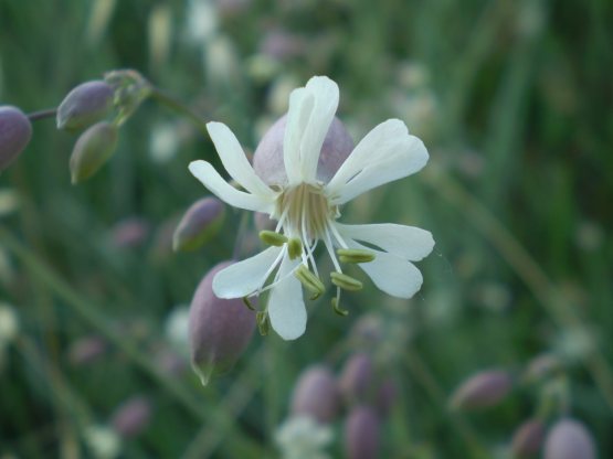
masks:
{"type": "Polygon", "coordinates": [[[338,387],[347,404],[367,402],[373,386],[372,360],[363,352],[353,354],[345,363],[338,387]]]}

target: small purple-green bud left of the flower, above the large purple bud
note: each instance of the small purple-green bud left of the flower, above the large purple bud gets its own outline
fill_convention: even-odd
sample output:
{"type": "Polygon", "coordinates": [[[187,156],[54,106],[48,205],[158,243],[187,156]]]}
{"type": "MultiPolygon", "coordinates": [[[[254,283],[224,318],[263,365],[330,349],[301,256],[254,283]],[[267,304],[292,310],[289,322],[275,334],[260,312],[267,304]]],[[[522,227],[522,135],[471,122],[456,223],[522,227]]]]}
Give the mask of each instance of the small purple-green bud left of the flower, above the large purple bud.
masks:
{"type": "Polygon", "coordinates": [[[225,206],[216,198],[194,202],[175,231],[173,250],[194,250],[211,241],[220,231],[224,215],[225,206]]]}

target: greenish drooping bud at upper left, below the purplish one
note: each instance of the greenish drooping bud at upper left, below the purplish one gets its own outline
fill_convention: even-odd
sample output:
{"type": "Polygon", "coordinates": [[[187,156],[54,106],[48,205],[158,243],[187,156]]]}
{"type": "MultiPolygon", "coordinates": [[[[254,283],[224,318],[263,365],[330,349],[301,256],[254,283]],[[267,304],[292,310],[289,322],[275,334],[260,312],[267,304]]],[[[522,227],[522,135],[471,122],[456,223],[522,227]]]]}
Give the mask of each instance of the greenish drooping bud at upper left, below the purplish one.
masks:
{"type": "Polygon", "coordinates": [[[71,156],[72,182],[78,183],[88,179],[110,158],[117,146],[117,127],[101,121],[77,139],[71,156]]]}

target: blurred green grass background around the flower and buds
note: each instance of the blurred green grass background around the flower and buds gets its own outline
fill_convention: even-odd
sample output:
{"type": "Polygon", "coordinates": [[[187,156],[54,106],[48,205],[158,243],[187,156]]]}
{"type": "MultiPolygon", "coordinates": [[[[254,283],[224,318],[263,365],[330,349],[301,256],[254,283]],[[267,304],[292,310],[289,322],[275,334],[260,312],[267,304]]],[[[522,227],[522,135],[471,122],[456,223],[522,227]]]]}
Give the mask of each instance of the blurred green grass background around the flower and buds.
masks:
{"type": "MultiPolygon", "coordinates": [[[[0,104],[52,107],[83,81],[134,67],[253,149],[258,126],[279,115],[269,97],[281,82],[327,74],[339,83],[340,117],[355,140],[393,116],[429,147],[426,171],[344,210],[348,222],[432,231],[437,245],[420,264],[422,292],[406,305],[369,286],[347,299],[348,319],[315,305],[297,342],[254,338],[237,367],[205,388],[190,373],[169,377],[151,352],[165,343],[165,318],[231,256],[240,215],[231,212],[219,244],[197,254],[165,254],[155,234],[141,246],[113,248],[109,231],[135,215],[159,230],[200,198],[187,164],[215,161],[210,140],[192,131],[171,161],[152,161],[151,132],[176,118],[146,103],[121,130],[112,162],[71,186],[74,138],[39,121],[28,150],[0,177],[21,200],[0,216],[11,266],[0,299],[20,320],[0,373],[0,409],[10,413],[0,421],[0,453],[88,457],[85,426],[146,394],[154,417],[124,444],[125,457],[274,457],[273,428],[299,371],[330,355],[340,364],[351,323],[379,312],[404,330],[389,354],[402,394],[384,427],[384,457],[494,456],[536,396],[519,391],[467,417],[450,414],[445,396],[479,369],[517,369],[547,351],[571,362],[573,413],[601,457],[611,455],[611,2],[230,3],[213,3],[219,26],[194,42],[187,2],[3,1],[0,104]],[[170,42],[156,54],[148,28],[163,13],[170,42]],[[304,50],[263,75],[255,57],[278,29],[297,34],[304,50]],[[225,54],[211,44],[220,36],[231,45],[225,54]],[[408,72],[425,76],[408,83],[408,72]],[[592,349],[572,346],[579,332],[592,349]],[[110,351],[91,367],[71,365],[71,343],[94,333],[110,351]]],[[[337,436],[335,456],[340,446],[337,436]]]]}

